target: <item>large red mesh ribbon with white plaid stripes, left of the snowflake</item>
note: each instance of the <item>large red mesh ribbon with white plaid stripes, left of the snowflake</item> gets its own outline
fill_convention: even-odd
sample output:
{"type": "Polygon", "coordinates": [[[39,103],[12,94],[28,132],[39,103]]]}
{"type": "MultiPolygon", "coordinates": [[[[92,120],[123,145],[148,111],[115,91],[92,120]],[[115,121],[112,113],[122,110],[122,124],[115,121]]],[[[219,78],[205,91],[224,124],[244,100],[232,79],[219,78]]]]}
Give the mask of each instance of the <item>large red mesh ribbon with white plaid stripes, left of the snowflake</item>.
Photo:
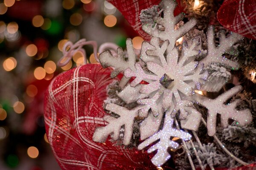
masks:
{"type": "Polygon", "coordinates": [[[87,64],[52,80],[44,100],[49,144],[63,170],[134,170],[154,167],[136,149],[92,141],[96,127],[104,126],[102,108],[106,86],[113,81],[110,69],[87,64]]]}

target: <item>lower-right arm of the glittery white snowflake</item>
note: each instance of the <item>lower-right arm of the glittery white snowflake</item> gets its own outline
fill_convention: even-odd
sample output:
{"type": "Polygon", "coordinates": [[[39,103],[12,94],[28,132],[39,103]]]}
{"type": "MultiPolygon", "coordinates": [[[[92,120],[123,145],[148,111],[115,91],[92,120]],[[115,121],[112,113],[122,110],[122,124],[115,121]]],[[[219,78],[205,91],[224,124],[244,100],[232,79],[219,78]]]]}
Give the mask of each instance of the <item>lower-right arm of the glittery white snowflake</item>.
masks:
{"type": "Polygon", "coordinates": [[[249,109],[236,110],[236,106],[241,100],[236,99],[234,102],[227,105],[224,104],[224,102],[241,90],[242,86],[235,86],[218,96],[216,99],[209,99],[201,95],[195,96],[196,102],[208,109],[207,130],[209,136],[213,136],[216,132],[217,113],[221,114],[221,125],[223,127],[228,126],[228,119],[235,120],[241,126],[248,125],[252,121],[252,115],[249,109]]]}

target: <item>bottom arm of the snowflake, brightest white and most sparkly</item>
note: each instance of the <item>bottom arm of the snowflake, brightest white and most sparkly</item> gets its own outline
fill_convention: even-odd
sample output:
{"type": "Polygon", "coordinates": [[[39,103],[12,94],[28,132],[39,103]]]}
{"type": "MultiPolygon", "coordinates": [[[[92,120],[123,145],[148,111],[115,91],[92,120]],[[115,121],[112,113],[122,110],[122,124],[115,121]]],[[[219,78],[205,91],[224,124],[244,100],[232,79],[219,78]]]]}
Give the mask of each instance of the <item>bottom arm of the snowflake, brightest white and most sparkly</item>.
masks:
{"type": "Polygon", "coordinates": [[[163,129],[155,133],[153,136],[150,136],[138,146],[138,149],[142,150],[151,143],[160,139],[159,142],[151,146],[147,151],[148,153],[152,153],[157,150],[157,153],[151,159],[152,163],[155,166],[161,166],[171,157],[168,153],[169,147],[173,149],[179,147],[179,144],[177,142],[170,140],[171,137],[178,137],[184,141],[190,140],[192,137],[189,133],[186,133],[183,130],[175,129],[173,127],[173,122],[174,120],[171,118],[170,115],[166,116],[163,129]]]}

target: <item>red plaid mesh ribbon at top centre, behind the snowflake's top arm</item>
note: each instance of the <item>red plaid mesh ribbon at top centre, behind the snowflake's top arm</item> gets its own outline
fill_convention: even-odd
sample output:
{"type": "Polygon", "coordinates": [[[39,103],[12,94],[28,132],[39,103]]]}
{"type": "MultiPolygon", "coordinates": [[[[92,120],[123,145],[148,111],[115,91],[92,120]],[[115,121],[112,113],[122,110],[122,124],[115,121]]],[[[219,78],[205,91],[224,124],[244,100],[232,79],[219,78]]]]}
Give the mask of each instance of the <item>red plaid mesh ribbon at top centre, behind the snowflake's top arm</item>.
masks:
{"type": "MultiPolygon", "coordinates": [[[[140,23],[140,11],[150,8],[153,5],[158,5],[161,0],[108,0],[122,13],[128,23],[134,30],[145,40],[150,40],[151,36],[146,34],[140,23]]],[[[178,5],[174,11],[174,15],[180,14],[183,11],[180,0],[176,0],[178,5]]]]}

